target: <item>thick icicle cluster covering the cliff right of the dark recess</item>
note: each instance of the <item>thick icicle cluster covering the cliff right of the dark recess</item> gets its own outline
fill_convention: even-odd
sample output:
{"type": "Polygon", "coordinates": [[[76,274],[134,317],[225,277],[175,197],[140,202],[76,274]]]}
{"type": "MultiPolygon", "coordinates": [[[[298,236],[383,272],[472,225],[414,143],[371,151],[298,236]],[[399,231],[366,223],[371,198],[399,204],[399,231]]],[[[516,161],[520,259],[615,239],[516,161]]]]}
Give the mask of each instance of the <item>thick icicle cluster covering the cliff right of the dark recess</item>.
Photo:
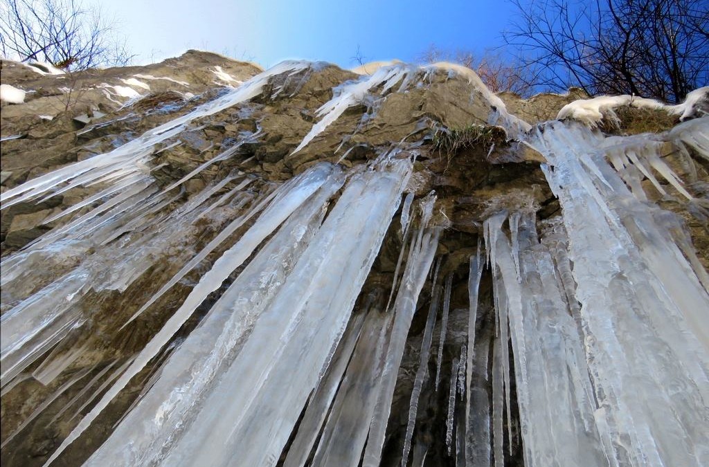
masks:
{"type": "MultiPolygon", "coordinates": [[[[677,127],[674,143],[707,157],[707,120],[677,127]]],[[[691,243],[673,215],[628,189],[600,135],[554,122],[530,142],[563,215],[542,232],[530,209],[484,223],[486,258],[479,247],[469,276],[466,465],[502,467],[512,444],[508,342],[526,466],[707,465],[709,277],[691,243]],[[485,259],[492,355],[473,326],[485,259]]],[[[624,154],[675,184],[657,149],[634,137],[624,154]]]]}

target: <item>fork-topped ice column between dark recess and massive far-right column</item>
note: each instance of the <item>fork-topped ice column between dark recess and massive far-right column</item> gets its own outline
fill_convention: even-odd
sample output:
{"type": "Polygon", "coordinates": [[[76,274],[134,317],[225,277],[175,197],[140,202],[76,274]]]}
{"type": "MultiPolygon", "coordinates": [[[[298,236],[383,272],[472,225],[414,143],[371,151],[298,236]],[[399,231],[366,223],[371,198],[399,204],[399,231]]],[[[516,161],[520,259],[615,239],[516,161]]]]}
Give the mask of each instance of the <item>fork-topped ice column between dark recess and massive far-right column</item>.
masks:
{"type": "MultiPolygon", "coordinates": [[[[510,305],[525,462],[561,466],[563,459],[564,466],[607,466],[593,423],[595,407],[581,337],[565,291],[557,287],[552,257],[537,241],[533,216],[523,213],[520,223],[519,271],[504,232],[488,242],[496,250],[500,270],[496,290],[506,291],[510,305]]],[[[502,225],[500,216],[486,223],[489,229],[502,225]]]]}

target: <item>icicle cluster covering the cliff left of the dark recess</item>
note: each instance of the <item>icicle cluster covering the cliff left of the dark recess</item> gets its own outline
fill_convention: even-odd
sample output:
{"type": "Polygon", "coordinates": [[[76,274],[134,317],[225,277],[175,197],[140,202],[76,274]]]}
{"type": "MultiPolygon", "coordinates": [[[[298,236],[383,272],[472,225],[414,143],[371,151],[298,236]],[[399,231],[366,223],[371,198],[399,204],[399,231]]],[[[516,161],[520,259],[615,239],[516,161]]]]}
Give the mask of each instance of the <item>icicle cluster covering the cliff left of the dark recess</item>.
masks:
{"type": "MultiPolygon", "coordinates": [[[[128,359],[113,361],[88,382],[84,378],[97,368],[77,372],[9,434],[3,446],[65,391],[82,383],[84,388],[54,420],[86,393],[91,395],[78,411],[91,403],[94,407],[48,460],[48,464],[52,463],[91,425],[131,378],[157,358],[160,371],[151,375],[133,410],[89,463],[96,459],[98,463],[111,465],[159,461],[166,465],[179,462],[186,465],[228,464],[233,463],[235,453],[242,456],[246,449],[257,446],[259,440],[269,440],[270,446],[252,449],[254,458],[247,456],[250,459],[247,463],[260,465],[277,458],[301,407],[306,404],[313,388],[319,387],[324,368],[328,368],[333,359],[333,351],[349,320],[354,300],[401,201],[401,193],[413,167],[411,157],[394,157],[396,150],[384,154],[369,170],[356,168],[348,173],[333,164],[318,164],[280,186],[265,184],[259,195],[245,190],[255,183],[253,176],[233,171],[224,179],[211,182],[201,193],[182,204],[179,203],[182,198],[180,187],[184,182],[209,165],[232,157],[243,142],[257,135],[245,135],[242,141],[164,189],[158,188],[150,174],[160,166],[151,167],[151,162],[157,145],[169,143],[169,148],[178,144],[173,140],[187,130],[193,120],[252,99],[262,93],[272,77],[286,75],[286,83],[291,77],[307,79],[308,71],[318,67],[320,64],[284,62],[220,99],[150,130],[112,152],[52,171],[2,193],[2,207],[8,208],[17,203],[42,202],[77,187],[99,187],[94,189],[93,195],[45,220],[45,223],[51,223],[67,216],[69,222],[3,261],[0,352],[3,393],[26,378],[49,384],[82,356],[86,345],[74,345],[72,330],[91,320],[101,319],[101,316],[94,316],[96,310],[91,309],[91,303],[82,301],[87,293],[123,292],[151,267],[160,261],[169,261],[177,273],[135,312],[128,320],[130,322],[194,270],[208,254],[223,248],[224,242],[240,227],[253,223],[201,276],[179,309],[142,351],[128,359]],[[306,72],[305,77],[298,77],[303,72],[306,72]],[[225,189],[224,194],[215,196],[225,189]],[[328,212],[331,198],[340,189],[343,191],[336,206],[328,212]],[[328,213],[327,218],[325,213],[328,213]],[[72,214],[75,215],[69,217],[72,214]],[[193,254],[187,242],[194,238],[199,230],[196,225],[204,218],[233,220],[193,254]],[[341,232],[350,232],[350,236],[343,239],[341,232]],[[257,251],[268,237],[267,244],[257,251]],[[203,300],[256,251],[256,256],[214,305],[199,329],[182,344],[172,341],[174,334],[203,300]],[[107,264],[111,264],[108,269],[107,264]],[[279,265],[275,270],[272,269],[274,264],[279,265]],[[330,310],[337,310],[337,313],[330,313],[330,310]],[[172,344],[165,347],[169,342],[172,344]],[[176,347],[179,348],[176,350],[176,347]],[[48,351],[50,353],[38,368],[31,373],[25,372],[48,351]],[[262,364],[255,364],[254,356],[263,359],[262,364]],[[298,378],[301,379],[293,381],[288,369],[303,364],[303,358],[307,359],[305,365],[310,371],[299,372],[298,378]],[[245,371],[250,372],[250,378],[245,377],[245,371]],[[238,378],[242,394],[241,405],[233,405],[234,417],[224,417],[222,403],[209,405],[207,402],[223,399],[225,392],[230,393],[230,399],[237,397],[233,394],[234,383],[230,383],[229,378],[238,378]],[[281,407],[285,412],[274,417],[278,423],[254,422],[262,417],[264,410],[270,410],[272,401],[279,398],[277,393],[285,386],[294,386],[298,390],[289,393],[291,402],[281,407]],[[185,397],[185,394],[192,397],[185,397]],[[214,411],[210,412],[208,407],[214,411]],[[186,421],[193,417],[194,422],[188,426],[186,421]],[[140,422],[133,424],[135,420],[140,422]],[[228,429],[219,427],[216,420],[228,423],[228,429]],[[125,444],[121,435],[124,427],[135,441],[127,451],[112,449],[114,441],[125,444]],[[266,431],[261,432],[257,427],[266,431]],[[223,438],[215,436],[216,432],[223,438]],[[228,449],[215,448],[228,445],[231,446],[228,449]],[[186,450],[193,456],[185,456],[186,450]],[[111,458],[117,454],[121,459],[111,458]]],[[[357,99],[364,99],[373,87],[383,84],[384,89],[380,91],[383,94],[403,77],[416,75],[423,79],[428,72],[401,65],[392,67],[384,79],[362,79],[361,89],[354,93],[356,99],[352,98],[352,91],[333,99],[330,103],[335,108],[332,119],[337,118],[343,108],[356,104],[357,99]],[[338,99],[341,102],[337,102],[338,99]],[[337,109],[340,109],[339,113],[337,109]]],[[[272,97],[282,89],[283,86],[277,88],[272,97]]],[[[327,115],[323,118],[325,123],[328,118],[327,115]]],[[[301,147],[324,126],[316,125],[301,147]]],[[[411,210],[413,196],[407,199],[405,207],[411,210]]],[[[427,225],[431,210],[432,201],[429,200],[425,203],[420,225],[427,225]]],[[[392,346],[388,350],[391,355],[386,357],[387,361],[395,362],[386,366],[389,382],[385,389],[390,392],[393,392],[396,368],[403,354],[408,330],[406,322],[413,317],[415,297],[428,271],[426,261],[431,261],[437,245],[437,232],[421,227],[413,235],[411,255],[414,257],[410,257],[407,264],[419,261],[422,265],[411,271],[406,269],[399,286],[402,292],[397,296],[395,306],[397,310],[401,309],[398,314],[404,322],[398,325],[401,327],[401,342],[392,346]]],[[[389,320],[389,316],[383,319],[389,320]]],[[[364,330],[376,332],[379,336],[381,320],[369,321],[364,330]]],[[[356,338],[357,335],[349,337],[350,340],[356,338]]],[[[377,339],[383,339],[383,336],[377,339]]],[[[384,343],[380,347],[383,346],[384,343]]],[[[371,359],[372,356],[362,358],[371,359]]],[[[386,401],[387,397],[391,399],[391,393],[381,397],[386,401]]],[[[388,407],[386,402],[376,402],[377,407],[388,407]]],[[[372,405],[372,414],[374,409],[372,405]]],[[[383,442],[386,417],[373,425],[381,431],[383,442]]],[[[309,449],[313,441],[303,440],[303,443],[309,443],[307,448],[303,444],[303,449],[309,449]]],[[[341,445],[333,441],[335,448],[341,445]]]]}

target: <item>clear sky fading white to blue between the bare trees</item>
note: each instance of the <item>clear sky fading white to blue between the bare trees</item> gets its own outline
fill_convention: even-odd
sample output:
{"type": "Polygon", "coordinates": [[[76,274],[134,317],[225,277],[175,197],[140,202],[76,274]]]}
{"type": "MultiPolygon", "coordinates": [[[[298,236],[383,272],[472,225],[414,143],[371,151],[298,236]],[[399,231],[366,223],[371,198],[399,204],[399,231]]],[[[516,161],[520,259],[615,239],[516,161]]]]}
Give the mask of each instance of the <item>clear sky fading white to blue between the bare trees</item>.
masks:
{"type": "Polygon", "coordinates": [[[189,48],[264,67],[289,58],[352,67],[358,46],[365,62],[413,61],[431,44],[478,57],[501,45],[514,14],[510,0],[97,1],[116,16],[135,64],[189,48]]]}

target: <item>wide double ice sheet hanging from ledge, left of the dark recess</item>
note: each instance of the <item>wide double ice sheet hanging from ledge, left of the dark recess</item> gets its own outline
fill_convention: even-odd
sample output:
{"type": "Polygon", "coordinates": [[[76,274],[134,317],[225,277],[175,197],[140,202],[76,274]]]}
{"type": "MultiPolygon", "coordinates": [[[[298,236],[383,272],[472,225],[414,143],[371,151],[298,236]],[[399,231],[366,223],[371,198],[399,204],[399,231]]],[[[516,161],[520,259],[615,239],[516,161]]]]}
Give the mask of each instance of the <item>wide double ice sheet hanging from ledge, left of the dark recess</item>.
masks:
{"type": "Polygon", "coordinates": [[[237,310],[208,315],[87,465],[218,466],[230,465],[236,456],[244,465],[275,464],[318,383],[320,368],[342,335],[401,201],[411,161],[395,159],[384,165],[388,167],[352,176],[323,225],[312,216],[323,212],[323,203],[338,184],[325,191],[327,196],[313,198],[316,210],[311,208],[309,217],[303,217],[306,211],[291,216],[215,305],[215,310],[237,310]],[[302,227],[294,224],[307,219],[302,227]],[[294,233],[308,231],[303,240],[292,242],[294,233]],[[350,235],[339,235],[344,231],[350,235]],[[296,249],[289,253],[286,247],[296,249]],[[262,288],[264,265],[281,254],[296,254],[276,261],[294,261],[294,266],[262,288]],[[252,301],[255,294],[261,298],[252,301]],[[260,310],[251,303],[259,303],[260,310]],[[230,320],[227,326],[225,319],[230,320]],[[244,342],[235,348],[240,335],[244,342]],[[194,363],[195,355],[213,363],[194,363]],[[283,393],[284,385],[291,390],[283,393]],[[230,403],[225,405],[225,400],[230,403]],[[273,400],[280,402],[274,406],[273,400]],[[264,420],[264,413],[271,415],[264,420]],[[118,448],[129,439],[130,449],[118,448]]]}

